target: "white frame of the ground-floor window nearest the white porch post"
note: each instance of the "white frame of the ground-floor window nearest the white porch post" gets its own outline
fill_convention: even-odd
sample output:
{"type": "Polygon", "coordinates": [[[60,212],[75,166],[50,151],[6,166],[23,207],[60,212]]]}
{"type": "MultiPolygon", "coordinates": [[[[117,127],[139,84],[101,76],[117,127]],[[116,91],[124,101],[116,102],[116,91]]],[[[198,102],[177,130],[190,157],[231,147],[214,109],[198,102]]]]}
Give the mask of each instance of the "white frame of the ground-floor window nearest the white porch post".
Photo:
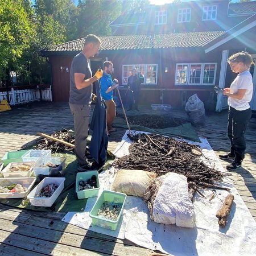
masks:
{"type": "Polygon", "coordinates": [[[206,86],[212,86],[215,84],[215,80],[216,80],[216,71],[217,71],[217,63],[176,63],[176,70],[175,70],[175,77],[174,77],[174,84],[175,85],[199,85],[199,86],[202,86],[202,85],[206,85],[206,86]],[[177,66],[178,65],[187,65],[188,66],[188,70],[187,70],[187,76],[186,76],[186,81],[185,83],[179,83],[179,82],[176,82],[176,77],[177,77],[177,66]],[[201,65],[201,73],[200,73],[200,83],[197,84],[197,83],[191,83],[189,82],[190,81],[190,73],[191,73],[191,65],[201,65]],[[204,67],[205,65],[215,65],[215,68],[214,68],[214,78],[213,78],[213,82],[212,84],[205,84],[203,81],[204,81],[204,67]]]}

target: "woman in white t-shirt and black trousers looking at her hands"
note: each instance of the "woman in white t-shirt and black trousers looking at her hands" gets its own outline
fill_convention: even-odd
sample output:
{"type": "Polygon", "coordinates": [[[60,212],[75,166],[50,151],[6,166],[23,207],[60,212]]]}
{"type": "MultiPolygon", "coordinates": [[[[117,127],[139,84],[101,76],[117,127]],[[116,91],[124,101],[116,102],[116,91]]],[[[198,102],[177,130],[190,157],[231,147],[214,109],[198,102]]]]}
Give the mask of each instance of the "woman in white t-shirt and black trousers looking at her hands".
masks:
{"type": "Polygon", "coordinates": [[[253,78],[249,68],[254,63],[251,55],[247,52],[238,52],[230,56],[228,63],[232,71],[238,75],[230,88],[224,88],[223,92],[228,96],[228,136],[231,147],[228,154],[219,156],[222,160],[233,160],[226,168],[236,170],[241,167],[245,157],[245,130],[251,118],[249,102],[253,96],[253,78]]]}

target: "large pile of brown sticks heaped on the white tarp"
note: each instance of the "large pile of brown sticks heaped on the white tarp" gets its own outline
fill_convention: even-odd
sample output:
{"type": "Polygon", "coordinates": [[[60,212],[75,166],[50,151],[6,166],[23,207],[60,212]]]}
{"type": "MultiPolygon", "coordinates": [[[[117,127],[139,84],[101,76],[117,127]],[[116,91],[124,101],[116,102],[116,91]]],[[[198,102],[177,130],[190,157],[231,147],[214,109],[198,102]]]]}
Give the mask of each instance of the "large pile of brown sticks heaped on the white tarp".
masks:
{"type": "Polygon", "coordinates": [[[137,134],[133,139],[130,155],[117,159],[114,167],[151,171],[159,176],[176,172],[187,177],[191,188],[225,189],[216,185],[222,181],[222,173],[200,160],[202,152],[196,145],[154,134],[137,134]]]}

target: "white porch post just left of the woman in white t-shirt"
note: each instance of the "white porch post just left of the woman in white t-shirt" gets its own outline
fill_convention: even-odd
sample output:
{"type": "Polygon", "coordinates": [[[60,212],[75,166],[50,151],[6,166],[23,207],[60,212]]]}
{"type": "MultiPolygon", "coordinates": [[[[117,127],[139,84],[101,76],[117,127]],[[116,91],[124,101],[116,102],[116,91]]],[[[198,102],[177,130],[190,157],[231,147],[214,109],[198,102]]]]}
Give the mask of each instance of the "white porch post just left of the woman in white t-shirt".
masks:
{"type": "MultiPolygon", "coordinates": [[[[225,88],[226,67],[228,65],[228,63],[227,63],[228,57],[229,57],[229,50],[222,51],[220,80],[218,81],[218,86],[220,88],[225,88]]],[[[218,93],[217,102],[216,102],[216,110],[215,110],[216,112],[221,112],[223,98],[224,98],[223,94],[218,93]]]]}

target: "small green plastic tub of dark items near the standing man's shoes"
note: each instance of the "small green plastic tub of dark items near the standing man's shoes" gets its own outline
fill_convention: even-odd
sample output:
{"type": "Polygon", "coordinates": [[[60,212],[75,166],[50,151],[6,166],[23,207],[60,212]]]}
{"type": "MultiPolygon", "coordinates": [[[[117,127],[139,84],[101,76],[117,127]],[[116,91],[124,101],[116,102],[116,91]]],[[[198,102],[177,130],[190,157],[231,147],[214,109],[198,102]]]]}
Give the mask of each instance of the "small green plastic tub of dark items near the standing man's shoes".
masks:
{"type": "Polygon", "coordinates": [[[100,191],[100,180],[98,179],[98,171],[86,171],[86,172],[78,172],[76,175],[76,193],[78,199],[85,199],[89,197],[98,196],[98,192],[100,191]],[[79,181],[81,180],[88,180],[93,175],[97,177],[97,188],[92,189],[84,189],[79,190],[79,181]]]}

